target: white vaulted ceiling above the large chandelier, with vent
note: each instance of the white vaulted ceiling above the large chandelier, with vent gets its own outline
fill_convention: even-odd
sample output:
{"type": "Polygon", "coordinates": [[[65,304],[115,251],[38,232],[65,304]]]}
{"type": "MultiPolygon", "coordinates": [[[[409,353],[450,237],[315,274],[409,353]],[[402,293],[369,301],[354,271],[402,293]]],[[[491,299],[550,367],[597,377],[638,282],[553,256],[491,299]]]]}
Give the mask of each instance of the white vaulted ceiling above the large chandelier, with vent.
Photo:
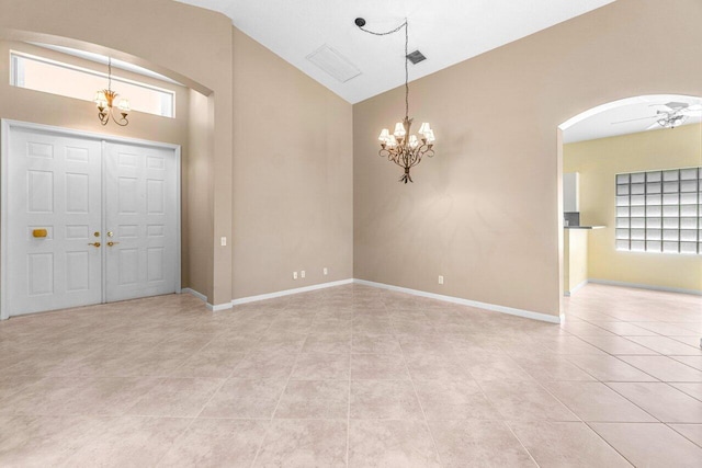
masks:
{"type": "Polygon", "coordinates": [[[409,22],[410,81],[517,41],[614,0],[176,0],[219,11],[239,30],[344,100],[356,103],[405,81],[403,32],[373,36],[409,22]],[[342,83],[306,57],[328,45],[360,71],[342,83]]]}

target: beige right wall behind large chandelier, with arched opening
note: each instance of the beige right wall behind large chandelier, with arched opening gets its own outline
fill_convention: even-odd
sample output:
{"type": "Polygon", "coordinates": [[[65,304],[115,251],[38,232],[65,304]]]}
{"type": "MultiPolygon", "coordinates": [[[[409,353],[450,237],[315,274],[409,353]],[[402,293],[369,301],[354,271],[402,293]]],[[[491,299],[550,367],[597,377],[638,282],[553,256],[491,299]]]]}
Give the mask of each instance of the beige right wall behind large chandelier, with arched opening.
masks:
{"type": "Polygon", "coordinates": [[[438,142],[411,185],[377,156],[403,89],[354,105],[354,276],[558,315],[556,127],[632,95],[702,95],[700,18],[699,0],[620,0],[412,82],[438,142]]]}

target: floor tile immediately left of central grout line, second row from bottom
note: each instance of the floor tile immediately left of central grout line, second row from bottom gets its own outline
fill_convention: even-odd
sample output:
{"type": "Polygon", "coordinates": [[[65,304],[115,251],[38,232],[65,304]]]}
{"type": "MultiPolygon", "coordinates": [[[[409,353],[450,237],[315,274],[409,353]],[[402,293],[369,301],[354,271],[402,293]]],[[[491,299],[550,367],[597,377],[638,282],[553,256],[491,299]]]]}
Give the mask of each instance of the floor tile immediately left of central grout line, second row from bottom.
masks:
{"type": "Polygon", "coordinates": [[[348,380],[291,380],[275,410],[278,419],[347,419],[348,380]]]}

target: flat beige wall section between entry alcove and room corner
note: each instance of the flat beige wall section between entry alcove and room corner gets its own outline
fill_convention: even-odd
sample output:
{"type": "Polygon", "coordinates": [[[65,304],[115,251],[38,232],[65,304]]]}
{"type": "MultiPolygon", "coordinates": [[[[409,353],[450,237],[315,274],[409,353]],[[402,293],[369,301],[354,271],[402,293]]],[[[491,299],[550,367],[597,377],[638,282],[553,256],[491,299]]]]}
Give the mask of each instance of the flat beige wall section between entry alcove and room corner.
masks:
{"type": "Polygon", "coordinates": [[[234,297],[351,278],[351,104],[239,31],[234,48],[234,297]]]}

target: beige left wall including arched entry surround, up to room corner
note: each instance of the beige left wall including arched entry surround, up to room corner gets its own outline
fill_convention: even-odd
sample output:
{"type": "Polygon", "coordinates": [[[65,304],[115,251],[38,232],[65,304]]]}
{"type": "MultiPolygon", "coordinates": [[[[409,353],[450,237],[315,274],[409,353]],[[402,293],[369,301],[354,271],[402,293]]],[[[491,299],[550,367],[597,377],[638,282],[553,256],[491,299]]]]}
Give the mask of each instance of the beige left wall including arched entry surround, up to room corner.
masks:
{"type": "Polygon", "coordinates": [[[0,0],[0,38],[110,54],[202,92],[178,128],[117,129],[93,128],[91,103],[0,84],[0,117],[184,145],[183,286],[224,305],[352,276],[351,105],[228,18],[171,0],[0,0]]]}

